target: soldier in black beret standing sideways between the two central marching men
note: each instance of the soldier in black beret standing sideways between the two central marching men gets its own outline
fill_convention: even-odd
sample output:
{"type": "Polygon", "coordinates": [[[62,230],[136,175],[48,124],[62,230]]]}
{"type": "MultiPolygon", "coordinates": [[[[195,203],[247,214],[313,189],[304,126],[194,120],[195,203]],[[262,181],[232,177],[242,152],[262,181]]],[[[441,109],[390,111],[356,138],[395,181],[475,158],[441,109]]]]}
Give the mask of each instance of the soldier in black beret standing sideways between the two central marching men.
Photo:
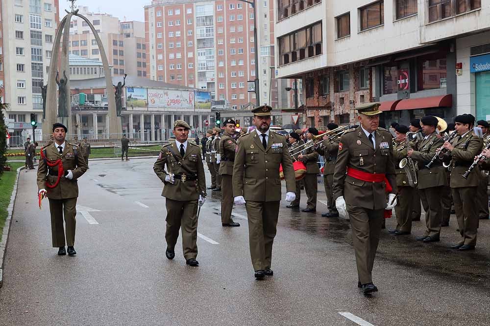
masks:
{"type": "Polygon", "coordinates": [[[221,225],[222,226],[240,226],[231,218],[233,209],[233,164],[235,162],[235,152],[238,144],[233,138],[235,133],[236,122],[227,119],[224,124],[224,132],[220,139],[220,174],[221,174],[221,225]]]}

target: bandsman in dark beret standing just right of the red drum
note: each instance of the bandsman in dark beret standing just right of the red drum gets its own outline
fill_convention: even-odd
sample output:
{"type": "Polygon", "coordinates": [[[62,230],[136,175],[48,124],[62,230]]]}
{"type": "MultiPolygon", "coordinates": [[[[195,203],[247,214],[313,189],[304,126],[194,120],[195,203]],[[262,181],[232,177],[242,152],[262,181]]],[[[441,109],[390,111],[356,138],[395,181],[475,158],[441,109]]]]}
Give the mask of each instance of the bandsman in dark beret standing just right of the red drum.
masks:
{"type": "MultiPolygon", "coordinates": [[[[318,130],[316,128],[308,128],[306,138],[313,142],[313,136],[318,136],[318,130]]],[[[305,187],[306,196],[308,196],[306,208],[301,212],[316,212],[317,211],[317,193],[318,193],[318,181],[317,175],[320,173],[318,167],[318,152],[313,147],[306,149],[304,154],[299,154],[298,159],[306,165],[306,174],[303,178],[303,184],[305,187]]]]}

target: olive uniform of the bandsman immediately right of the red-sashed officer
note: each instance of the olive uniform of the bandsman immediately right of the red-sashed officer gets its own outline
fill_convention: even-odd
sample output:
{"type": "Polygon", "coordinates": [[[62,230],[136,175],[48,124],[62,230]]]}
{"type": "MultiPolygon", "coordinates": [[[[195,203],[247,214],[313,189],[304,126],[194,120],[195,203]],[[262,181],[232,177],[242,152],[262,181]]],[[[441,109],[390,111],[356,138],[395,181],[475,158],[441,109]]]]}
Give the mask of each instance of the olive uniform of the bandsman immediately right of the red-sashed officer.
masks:
{"type": "MultiPolygon", "coordinates": [[[[410,186],[405,169],[399,168],[400,161],[407,157],[408,149],[409,147],[405,141],[395,141],[393,146],[396,186],[398,188],[398,199],[395,206],[396,230],[410,233],[412,232],[413,196],[415,194],[415,188],[410,186]]],[[[420,206],[420,203],[418,205],[420,206]]]]}

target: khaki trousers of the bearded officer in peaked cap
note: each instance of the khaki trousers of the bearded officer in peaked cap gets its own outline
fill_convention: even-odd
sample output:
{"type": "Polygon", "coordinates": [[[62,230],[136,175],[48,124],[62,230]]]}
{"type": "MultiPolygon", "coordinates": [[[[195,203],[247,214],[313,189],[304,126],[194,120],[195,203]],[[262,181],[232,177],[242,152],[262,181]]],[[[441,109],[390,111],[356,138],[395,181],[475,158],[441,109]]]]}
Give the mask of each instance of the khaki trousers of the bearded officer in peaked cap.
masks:
{"type": "Polygon", "coordinates": [[[248,242],[255,271],[270,268],[272,244],[276,235],[279,201],[251,201],[245,203],[248,218],[248,242]]]}

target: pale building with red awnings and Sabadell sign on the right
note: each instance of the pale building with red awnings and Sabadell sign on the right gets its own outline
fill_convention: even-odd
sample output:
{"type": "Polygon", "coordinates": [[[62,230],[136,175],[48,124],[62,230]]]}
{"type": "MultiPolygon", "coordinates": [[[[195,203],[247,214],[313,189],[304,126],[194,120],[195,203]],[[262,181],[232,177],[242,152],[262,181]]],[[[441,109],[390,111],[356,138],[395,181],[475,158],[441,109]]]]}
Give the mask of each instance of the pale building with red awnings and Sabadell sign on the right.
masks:
{"type": "Polygon", "coordinates": [[[277,77],[302,80],[308,125],[353,123],[355,106],[369,101],[382,102],[385,126],[426,114],[447,121],[461,113],[482,116],[478,103],[488,95],[478,99],[474,90],[488,83],[489,73],[470,65],[490,52],[488,0],[277,0],[275,6],[277,77]]]}

